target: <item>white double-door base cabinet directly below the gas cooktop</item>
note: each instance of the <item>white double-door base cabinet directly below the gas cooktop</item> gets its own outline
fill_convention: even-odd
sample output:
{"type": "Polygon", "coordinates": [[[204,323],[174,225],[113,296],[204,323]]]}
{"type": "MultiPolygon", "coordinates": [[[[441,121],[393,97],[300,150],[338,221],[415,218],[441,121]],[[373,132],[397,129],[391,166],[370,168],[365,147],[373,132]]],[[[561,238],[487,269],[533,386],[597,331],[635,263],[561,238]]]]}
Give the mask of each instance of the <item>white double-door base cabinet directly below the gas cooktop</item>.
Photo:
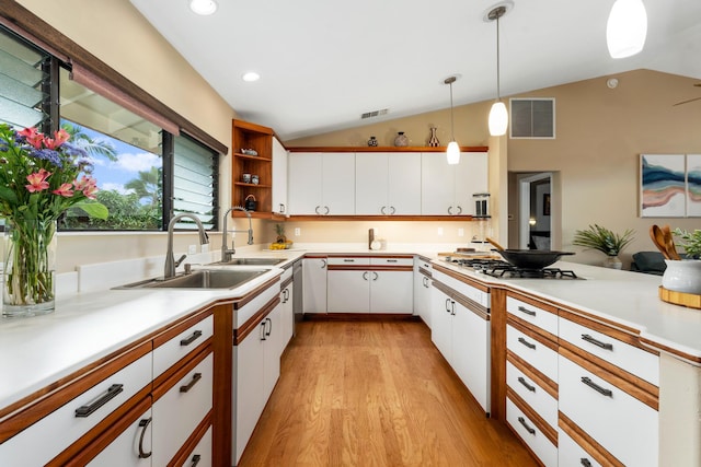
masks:
{"type": "Polygon", "coordinates": [[[445,273],[434,270],[430,337],[486,413],[491,411],[489,292],[468,283],[458,289],[445,273]],[[487,295],[474,301],[469,295],[487,295]]]}

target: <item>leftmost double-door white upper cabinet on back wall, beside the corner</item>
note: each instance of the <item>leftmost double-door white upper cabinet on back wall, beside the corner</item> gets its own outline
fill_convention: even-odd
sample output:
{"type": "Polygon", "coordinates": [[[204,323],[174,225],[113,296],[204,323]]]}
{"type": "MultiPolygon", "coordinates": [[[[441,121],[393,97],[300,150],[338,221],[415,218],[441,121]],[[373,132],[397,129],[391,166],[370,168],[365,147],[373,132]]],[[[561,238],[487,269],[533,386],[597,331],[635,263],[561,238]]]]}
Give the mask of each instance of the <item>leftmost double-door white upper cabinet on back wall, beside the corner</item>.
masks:
{"type": "Polygon", "coordinates": [[[289,154],[289,213],[355,214],[355,153],[289,154]]]}

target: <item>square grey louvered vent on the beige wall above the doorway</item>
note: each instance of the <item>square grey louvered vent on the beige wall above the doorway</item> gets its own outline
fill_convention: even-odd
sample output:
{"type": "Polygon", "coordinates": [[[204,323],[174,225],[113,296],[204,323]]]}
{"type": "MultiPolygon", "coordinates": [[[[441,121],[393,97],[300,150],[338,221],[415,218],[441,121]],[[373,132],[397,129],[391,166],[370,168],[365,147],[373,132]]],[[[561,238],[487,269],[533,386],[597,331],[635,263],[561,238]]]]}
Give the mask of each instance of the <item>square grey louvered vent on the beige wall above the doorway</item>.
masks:
{"type": "Polygon", "coordinates": [[[512,138],[555,138],[554,98],[512,98],[512,138]]]}

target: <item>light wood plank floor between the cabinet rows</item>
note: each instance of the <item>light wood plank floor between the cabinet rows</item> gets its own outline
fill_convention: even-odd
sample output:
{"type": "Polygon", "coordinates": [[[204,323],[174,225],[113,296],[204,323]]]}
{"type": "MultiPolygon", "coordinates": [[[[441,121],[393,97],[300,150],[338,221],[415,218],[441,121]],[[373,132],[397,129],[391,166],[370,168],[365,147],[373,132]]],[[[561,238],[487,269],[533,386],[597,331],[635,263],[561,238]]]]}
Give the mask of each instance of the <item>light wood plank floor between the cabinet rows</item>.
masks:
{"type": "Polygon", "coordinates": [[[535,466],[420,322],[303,322],[240,467],[535,466]]]}

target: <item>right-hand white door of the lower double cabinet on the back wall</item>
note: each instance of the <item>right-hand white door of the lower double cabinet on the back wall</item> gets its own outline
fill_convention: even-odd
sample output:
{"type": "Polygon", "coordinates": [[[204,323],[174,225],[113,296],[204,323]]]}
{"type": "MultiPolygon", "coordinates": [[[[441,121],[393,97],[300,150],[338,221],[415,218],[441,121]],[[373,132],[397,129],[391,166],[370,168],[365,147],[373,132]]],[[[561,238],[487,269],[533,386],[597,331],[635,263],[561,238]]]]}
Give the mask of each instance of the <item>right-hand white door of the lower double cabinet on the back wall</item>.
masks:
{"type": "Polygon", "coordinates": [[[368,271],[371,313],[411,314],[414,306],[412,271],[368,271]]]}

